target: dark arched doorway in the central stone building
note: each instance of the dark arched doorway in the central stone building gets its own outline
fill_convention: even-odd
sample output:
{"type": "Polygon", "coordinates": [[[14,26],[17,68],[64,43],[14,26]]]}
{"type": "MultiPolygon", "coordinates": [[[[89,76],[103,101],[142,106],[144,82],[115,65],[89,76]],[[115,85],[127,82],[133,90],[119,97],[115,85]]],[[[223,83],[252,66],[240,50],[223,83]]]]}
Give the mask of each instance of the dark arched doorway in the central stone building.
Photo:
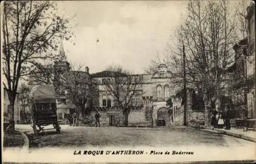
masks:
{"type": "Polygon", "coordinates": [[[157,126],[169,126],[170,124],[170,115],[168,108],[160,107],[157,111],[157,126]]]}

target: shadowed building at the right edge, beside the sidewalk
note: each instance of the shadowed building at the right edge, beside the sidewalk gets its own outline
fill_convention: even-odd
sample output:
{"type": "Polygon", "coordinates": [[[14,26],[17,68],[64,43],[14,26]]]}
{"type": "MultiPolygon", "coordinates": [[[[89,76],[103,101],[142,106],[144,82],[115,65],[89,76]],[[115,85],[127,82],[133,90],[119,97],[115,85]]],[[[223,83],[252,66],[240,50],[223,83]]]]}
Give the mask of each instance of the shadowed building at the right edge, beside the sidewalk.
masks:
{"type": "Polygon", "coordinates": [[[248,36],[234,44],[235,62],[228,68],[231,75],[230,97],[237,118],[255,118],[255,4],[247,8],[248,36]]]}

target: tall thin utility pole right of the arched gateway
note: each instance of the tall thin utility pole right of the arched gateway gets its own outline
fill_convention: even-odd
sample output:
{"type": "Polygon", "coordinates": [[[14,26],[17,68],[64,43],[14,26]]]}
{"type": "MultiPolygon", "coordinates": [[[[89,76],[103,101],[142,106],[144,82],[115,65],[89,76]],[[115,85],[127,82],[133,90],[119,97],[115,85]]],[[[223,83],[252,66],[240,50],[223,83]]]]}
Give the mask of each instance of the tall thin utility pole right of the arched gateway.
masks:
{"type": "Polygon", "coordinates": [[[187,126],[187,89],[186,89],[186,64],[185,64],[185,58],[186,58],[186,54],[185,54],[185,47],[184,47],[184,43],[182,41],[182,45],[183,45],[183,79],[184,79],[184,86],[183,86],[183,92],[184,92],[184,126],[187,126]]]}

